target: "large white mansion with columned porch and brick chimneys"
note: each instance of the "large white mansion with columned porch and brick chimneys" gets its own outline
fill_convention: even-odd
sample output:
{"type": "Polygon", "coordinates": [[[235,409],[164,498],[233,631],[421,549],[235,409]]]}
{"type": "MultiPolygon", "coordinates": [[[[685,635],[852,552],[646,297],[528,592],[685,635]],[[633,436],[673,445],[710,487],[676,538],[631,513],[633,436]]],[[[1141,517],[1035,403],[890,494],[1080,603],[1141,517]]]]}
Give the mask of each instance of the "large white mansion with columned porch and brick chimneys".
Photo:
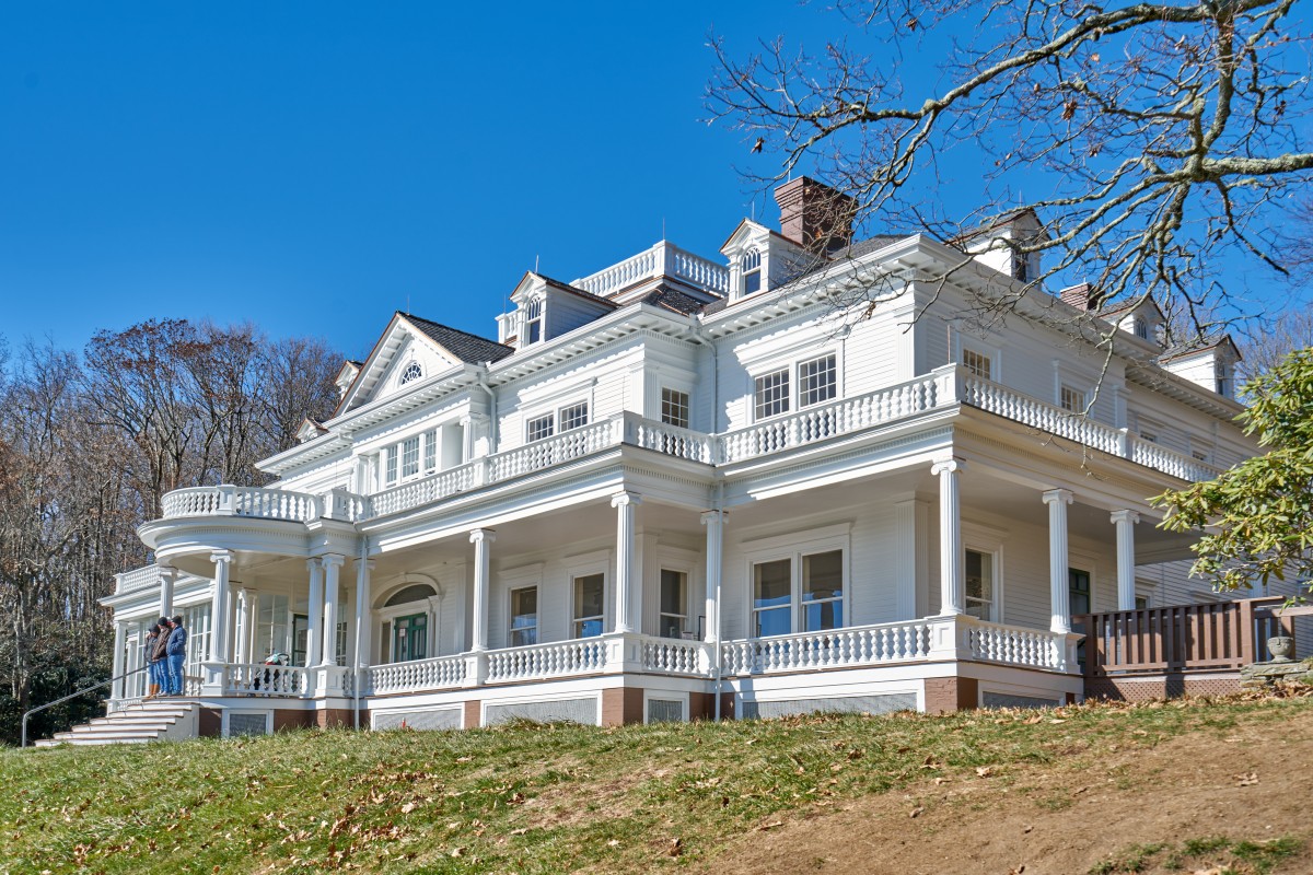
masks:
{"type": "Polygon", "coordinates": [[[1200,601],[1146,499],[1255,451],[1234,346],[1025,291],[1029,214],[952,269],[823,227],[819,182],[776,197],[714,260],[525,274],[495,342],[395,314],[272,485],[142,526],[116,674],[181,613],[201,733],[944,711],[1081,697],[1073,614],[1200,601]]]}

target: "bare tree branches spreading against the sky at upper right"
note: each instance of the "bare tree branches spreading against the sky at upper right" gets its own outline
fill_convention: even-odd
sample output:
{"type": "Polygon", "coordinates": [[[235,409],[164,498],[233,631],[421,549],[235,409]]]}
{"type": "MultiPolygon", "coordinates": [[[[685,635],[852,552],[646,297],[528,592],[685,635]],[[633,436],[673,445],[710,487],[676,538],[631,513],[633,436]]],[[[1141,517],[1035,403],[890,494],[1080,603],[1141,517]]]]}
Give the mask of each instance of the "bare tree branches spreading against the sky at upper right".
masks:
{"type": "Polygon", "coordinates": [[[1281,272],[1293,257],[1272,231],[1313,171],[1300,136],[1310,24],[1293,9],[843,4],[851,39],[815,55],[776,39],[739,56],[713,39],[706,104],[780,156],[762,182],[814,169],[876,230],[958,243],[990,215],[1035,210],[1039,232],[995,243],[1046,253],[1028,285],[1062,275],[1104,300],[1152,294],[1208,333],[1213,314],[1234,308],[1218,265],[1243,257],[1281,272]],[[943,80],[903,81],[913,51],[944,58],[943,80]],[[953,148],[970,165],[955,185],[978,178],[982,213],[941,206],[953,148]]]}

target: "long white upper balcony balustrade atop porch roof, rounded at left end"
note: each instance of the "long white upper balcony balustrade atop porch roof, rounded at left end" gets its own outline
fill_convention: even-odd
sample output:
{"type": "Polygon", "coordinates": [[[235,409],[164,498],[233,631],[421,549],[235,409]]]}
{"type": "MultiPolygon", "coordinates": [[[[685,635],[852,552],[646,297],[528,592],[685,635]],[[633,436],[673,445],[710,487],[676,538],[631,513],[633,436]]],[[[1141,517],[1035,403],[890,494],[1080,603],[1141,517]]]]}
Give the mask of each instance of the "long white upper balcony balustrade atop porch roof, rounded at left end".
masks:
{"type": "Polygon", "coordinates": [[[1221,472],[1216,466],[1146,441],[1129,429],[1098,422],[949,365],[903,383],[722,434],[693,432],[632,412],[617,413],[370,496],[345,489],[310,495],[235,485],[177,489],[164,497],[163,519],[243,517],[362,522],[548,472],[624,446],[733,472],[743,464],[760,464],[772,457],[786,457],[836,438],[886,426],[915,428],[918,420],[951,415],[961,405],[1053,436],[1082,451],[1127,459],[1179,480],[1211,480],[1221,472]]]}

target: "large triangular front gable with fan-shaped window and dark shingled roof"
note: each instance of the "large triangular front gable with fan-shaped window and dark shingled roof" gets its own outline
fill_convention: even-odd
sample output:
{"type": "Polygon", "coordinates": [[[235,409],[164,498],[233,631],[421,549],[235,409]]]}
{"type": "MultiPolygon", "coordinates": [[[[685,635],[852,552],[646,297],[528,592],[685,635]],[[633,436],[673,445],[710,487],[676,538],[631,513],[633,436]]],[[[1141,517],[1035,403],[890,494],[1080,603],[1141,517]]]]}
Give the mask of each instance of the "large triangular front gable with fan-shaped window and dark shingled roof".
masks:
{"type": "Polygon", "coordinates": [[[336,415],[461,365],[495,362],[512,352],[484,337],[398,311],[349,383],[336,415]]]}

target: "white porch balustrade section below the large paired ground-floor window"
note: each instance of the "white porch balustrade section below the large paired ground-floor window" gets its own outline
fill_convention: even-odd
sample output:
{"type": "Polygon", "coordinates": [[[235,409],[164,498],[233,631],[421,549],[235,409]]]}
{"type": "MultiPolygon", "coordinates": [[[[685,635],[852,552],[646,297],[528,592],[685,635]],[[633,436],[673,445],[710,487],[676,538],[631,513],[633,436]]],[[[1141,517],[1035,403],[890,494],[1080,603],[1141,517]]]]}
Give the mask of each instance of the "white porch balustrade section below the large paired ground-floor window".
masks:
{"type": "Polygon", "coordinates": [[[918,619],[729,641],[721,645],[721,670],[727,677],[769,674],[906,662],[928,653],[930,626],[918,619]]]}

